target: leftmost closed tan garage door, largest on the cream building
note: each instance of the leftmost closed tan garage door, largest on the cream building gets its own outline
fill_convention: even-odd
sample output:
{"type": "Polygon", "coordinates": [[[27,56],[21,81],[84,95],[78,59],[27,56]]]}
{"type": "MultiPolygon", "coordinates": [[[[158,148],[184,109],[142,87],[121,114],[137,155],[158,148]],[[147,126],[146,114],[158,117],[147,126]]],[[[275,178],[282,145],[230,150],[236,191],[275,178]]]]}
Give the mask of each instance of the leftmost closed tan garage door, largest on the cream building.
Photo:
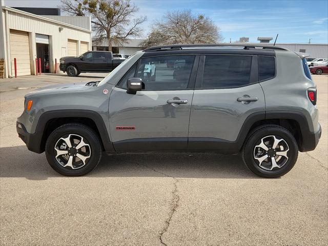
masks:
{"type": "Polygon", "coordinates": [[[17,61],[17,76],[31,74],[29,34],[23,31],[10,30],[11,71],[15,74],[14,58],[17,61]]]}

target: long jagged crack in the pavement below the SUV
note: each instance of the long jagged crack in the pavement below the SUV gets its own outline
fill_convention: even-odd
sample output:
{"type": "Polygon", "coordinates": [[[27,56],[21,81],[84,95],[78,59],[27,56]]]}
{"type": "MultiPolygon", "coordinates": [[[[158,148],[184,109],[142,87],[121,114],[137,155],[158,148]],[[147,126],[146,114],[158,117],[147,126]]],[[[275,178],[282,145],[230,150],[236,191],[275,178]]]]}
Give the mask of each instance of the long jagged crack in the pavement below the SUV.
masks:
{"type": "MultiPolygon", "coordinates": [[[[115,159],[115,158],[113,158],[113,159],[115,159]]],[[[125,161],[125,160],[124,160],[124,161],[125,161]]],[[[168,229],[169,229],[169,227],[170,227],[170,223],[171,223],[172,217],[173,217],[174,213],[176,212],[176,210],[178,209],[178,206],[179,206],[179,205],[178,205],[178,202],[179,202],[179,200],[180,200],[180,197],[179,197],[179,195],[178,195],[178,186],[177,186],[177,183],[179,182],[179,179],[176,178],[176,177],[174,177],[174,176],[168,175],[168,174],[166,174],[166,173],[163,173],[163,172],[157,171],[156,169],[153,169],[153,168],[151,168],[151,167],[148,167],[148,166],[145,165],[145,164],[141,164],[141,163],[138,163],[138,162],[132,163],[132,162],[129,162],[129,161],[125,161],[125,162],[131,163],[131,164],[135,164],[135,165],[137,165],[137,166],[143,166],[143,167],[145,167],[145,168],[147,168],[147,169],[150,169],[150,170],[152,170],[152,171],[154,171],[154,172],[156,172],[156,173],[159,173],[159,174],[162,174],[162,175],[164,175],[164,176],[166,176],[166,177],[169,177],[169,178],[173,178],[173,179],[174,179],[174,183],[173,183],[173,185],[174,185],[174,190],[172,191],[172,196],[173,196],[173,198],[172,198],[172,200],[171,200],[171,209],[170,209],[169,217],[168,217],[168,219],[165,221],[165,227],[164,227],[164,228],[160,231],[160,233],[159,233],[159,240],[160,240],[160,243],[161,243],[162,245],[167,246],[168,244],[165,243],[165,242],[163,241],[163,235],[168,231],[168,229]]]]}

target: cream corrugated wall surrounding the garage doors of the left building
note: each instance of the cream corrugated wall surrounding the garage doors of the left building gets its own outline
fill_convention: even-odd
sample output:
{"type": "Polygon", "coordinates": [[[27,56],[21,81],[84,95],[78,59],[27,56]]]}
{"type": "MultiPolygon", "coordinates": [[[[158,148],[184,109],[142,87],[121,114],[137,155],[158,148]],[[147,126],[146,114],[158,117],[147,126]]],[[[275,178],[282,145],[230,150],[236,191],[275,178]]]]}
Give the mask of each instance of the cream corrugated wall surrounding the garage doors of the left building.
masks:
{"type": "MultiPolygon", "coordinates": [[[[7,23],[9,29],[20,30],[29,32],[31,36],[31,44],[35,45],[35,34],[49,35],[49,53],[50,53],[50,68],[51,72],[55,70],[55,58],[59,64],[59,58],[63,56],[62,47],[67,50],[68,39],[79,40],[87,42],[89,49],[91,49],[91,32],[87,30],[76,29],[59,23],[53,23],[46,19],[36,18],[30,15],[25,15],[17,12],[8,11],[7,23]],[[59,31],[59,27],[63,27],[63,30],[59,31]]],[[[31,63],[36,58],[36,47],[31,48],[31,63]]],[[[67,55],[67,54],[66,54],[67,55]]],[[[34,68],[34,65],[32,65],[34,68]]],[[[32,71],[32,74],[34,72],[32,71]]]]}

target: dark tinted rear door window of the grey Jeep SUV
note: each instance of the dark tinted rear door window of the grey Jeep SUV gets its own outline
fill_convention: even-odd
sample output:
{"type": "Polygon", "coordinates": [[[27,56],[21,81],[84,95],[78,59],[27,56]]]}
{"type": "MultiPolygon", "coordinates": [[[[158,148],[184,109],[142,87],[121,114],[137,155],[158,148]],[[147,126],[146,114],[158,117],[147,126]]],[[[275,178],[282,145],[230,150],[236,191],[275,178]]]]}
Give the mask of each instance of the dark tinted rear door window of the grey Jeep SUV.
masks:
{"type": "Polygon", "coordinates": [[[250,83],[252,56],[207,55],[202,88],[231,88],[250,83]]]}

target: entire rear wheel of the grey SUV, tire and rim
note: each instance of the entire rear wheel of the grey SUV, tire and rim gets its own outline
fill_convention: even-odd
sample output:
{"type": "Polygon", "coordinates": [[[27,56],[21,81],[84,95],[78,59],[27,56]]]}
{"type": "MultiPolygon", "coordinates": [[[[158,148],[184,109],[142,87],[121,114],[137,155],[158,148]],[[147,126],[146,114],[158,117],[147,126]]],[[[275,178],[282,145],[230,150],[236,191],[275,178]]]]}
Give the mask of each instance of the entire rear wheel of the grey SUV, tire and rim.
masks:
{"type": "Polygon", "coordinates": [[[286,129],[266,125],[254,129],[245,141],[242,158],[255,174],[277,178],[288,173],[298,157],[294,136],[286,129]]]}

